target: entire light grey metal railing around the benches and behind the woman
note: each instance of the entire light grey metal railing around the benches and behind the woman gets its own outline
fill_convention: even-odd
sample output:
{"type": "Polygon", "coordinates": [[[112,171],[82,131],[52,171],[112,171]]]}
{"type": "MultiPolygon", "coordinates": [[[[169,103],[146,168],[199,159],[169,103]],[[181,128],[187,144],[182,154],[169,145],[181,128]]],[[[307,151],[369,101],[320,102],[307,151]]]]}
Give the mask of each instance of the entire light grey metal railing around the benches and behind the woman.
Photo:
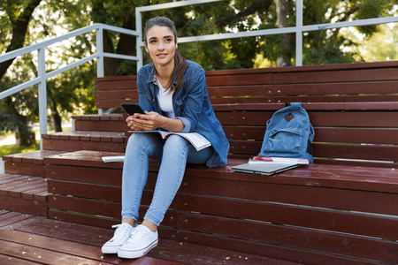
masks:
{"type": "MultiPolygon", "coordinates": [[[[46,79],[49,79],[58,73],[65,72],[73,67],[76,67],[80,64],[87,63],[90,60],[97,60],[97,77],[103,77],[103,58],[104,57],[113,57],[113,58],[121,58],[128,60],[137,61],[137,70],[142,67],[142,47],[144,46],[142,40],[142,12],[144,11],[156,11],[170,8],[177,8],[181,6],[187,6],[192,4],[210,4],[212,2],[219,2],[226,0],[187,0],[187,1],[179,1],[172,2],[168,4],[155,4],[149,6],[137,7],[135,9],[135,19],[136,19],[136,31],[128,30],[120,27],[113,27],[104,24],[94,24],[92,26],[83,27],[81,29],[75,30],[69,34],[65,34],[63,36],[56,37],[49,41],[37,43],[26,48],[16,49],[7,54],[0,56],[0,63],[25,55],[29,52],[37,50],[38,52],[38,76],[35,79],[29,80],[23,84],[20,84],[16,87],[11,87],[8,90],[0,93],[0,99],[7,97],[9,95],[13,95],[27,87],[34,86],[38,84],[39,89],[39,120],[40,120],[40,134],[42,137],[43,133],[47,133],[47,93],[46,93],[46,79]],[[45,52],[44,49],[54,44],[56,42],[62,42],[69,38],[78,36],[80,34],[87,34],[91,31],[96,30],[96,53],[80,59],[73,64],[68,64],[65,67],[59,68],[52,72],[46,72],[45,69],[45,52]],[[112,53],[103,52],[103,30],[109,30],[118,32],[121,34],[130,34],[134,35],[137,38],[136,45],[136,56],[126,56],[126,55],[118,55],[112,53]]],[[[227,33],[227,34],[208,34],[201,36],[193,36],[193,37],[181,37],[179,38],[179,42],[203,42],[203,41],[213,41],[213,40],[226,40],[232,38],[241,38],[241,37],[253,37],[253,36],[264,36],[270,34],[295,34],[295,65],[302,65],[302,34],[309,31],[315,30],[325,30],[332,28],[340,28],[340,27],[360,27],[360,26],[368,26],[375,24],[384,24],[384,23],[392,23],[398,22],[398,16],[393,17],[385,17],[385,18],[377,18],[377,19],[359,19],[347,22],[338,22],[338,23],[329,23],[329,24],[318,24],[318,25],[309,25],[303,26],[302,16],[303,16],[303,0],[296,0],[296,25],[295,27],[283,27],[283,28],[272,28],[265,30],[255,30],[251,32],[238,32],[238,33],[227,33]]],[[[103,113],[103,110],[98,110],[99,114],[103,113]]],[[[41,140],[41,149],[42,149],[42,140],[41,140]]]]}

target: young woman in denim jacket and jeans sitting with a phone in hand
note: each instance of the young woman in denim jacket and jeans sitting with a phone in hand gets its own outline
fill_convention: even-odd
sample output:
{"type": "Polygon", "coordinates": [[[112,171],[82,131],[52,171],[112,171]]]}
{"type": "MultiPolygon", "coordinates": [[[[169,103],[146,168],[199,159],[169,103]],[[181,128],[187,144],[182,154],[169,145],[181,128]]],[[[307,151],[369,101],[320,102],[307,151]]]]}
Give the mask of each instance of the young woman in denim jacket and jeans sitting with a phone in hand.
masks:
{"type": "Polygon", "coordinates": [[[172,20],[149,19],[144,34],[145,49],[152,59],[137,74],[139,102],[145,114],[127,117],[127,125],[134,131],[196,132],[208,139],[211,146],[196,151],[178,135],[163,140],[157,133],[133,133],[129,138],[122,180],[122,223],[102,251],[130,259],[157,246],[157,226],[180,187],[186,164],[223,167],[229,149],[211,108],[203,68],[180,55],[172,20]],[[161,161],[161,165],[151,204],[142,224],[137,225],[149,157],[161,161]]]}

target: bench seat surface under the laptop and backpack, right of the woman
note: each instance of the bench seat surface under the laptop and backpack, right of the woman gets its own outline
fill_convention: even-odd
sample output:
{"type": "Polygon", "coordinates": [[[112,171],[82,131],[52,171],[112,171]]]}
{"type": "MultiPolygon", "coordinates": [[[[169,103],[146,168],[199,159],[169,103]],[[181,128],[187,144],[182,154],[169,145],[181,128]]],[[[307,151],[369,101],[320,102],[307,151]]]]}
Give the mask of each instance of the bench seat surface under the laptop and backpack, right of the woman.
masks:
{"type": "MultiPolygon", "coordinates": [[[[241,181],[241,183],[237,183],[238,186],[235,186],[237,188],[237,191],[240,191],[239,185],[246,185],[246,183],[248,183],[247,185],[249,185],[249,183],[253,183],[253,186],[269,183],[275,185],[286,184],[293,186],[316,186],[338,189],[343,187],[344,189],[355,191],[362,190],[365,192],[372,191],[377,193],[398,193],[398,178],[394,169],[367,167],[360,168],[319,164],[302,166],[294,170],[287,170],[279,173],[278,175],[264,178],[264,176],[256,174],[232,172],[230,170],[230,167],[239,163],[244,163],[244,161],[230,160],[229,164],[225,168],[220,168],[217,170],[208,169],[204,166],[202,167],[189,165],[186,170],[186,176],[195,177],[197,178],[197,181],[201,178],[203,178],[203,181],[206,181],[207,178],[210,178],[210,181],[214,182],[217,182],[218,179],[225,179],[231,181],[231,183],[239,183],[239,181],[241,181]]],[[[184,183],[185,182],[183,182],[183,184],[184,183]]],[[[181,186],[180,188],[183,188],[185,186],[186,185],[181,186]]],[[[198,190],[200,190],[200,188],[201,186],[197,187],[198,190]]],[[[210,190],[213,191],[214,188],[211,188],[210,190]]],[[[221,189],[221,191],[223,190],[221,189]]],[[[232,192],[233,190],[229,191],[232,192]]],[[[250,191],[250,189],[248,189],[247,191],[250,191]]],[[[247,198],[247,193],[243,193],[243,191],[241,191],[240,193],[243,196],[240,198],[247,198]]]]}

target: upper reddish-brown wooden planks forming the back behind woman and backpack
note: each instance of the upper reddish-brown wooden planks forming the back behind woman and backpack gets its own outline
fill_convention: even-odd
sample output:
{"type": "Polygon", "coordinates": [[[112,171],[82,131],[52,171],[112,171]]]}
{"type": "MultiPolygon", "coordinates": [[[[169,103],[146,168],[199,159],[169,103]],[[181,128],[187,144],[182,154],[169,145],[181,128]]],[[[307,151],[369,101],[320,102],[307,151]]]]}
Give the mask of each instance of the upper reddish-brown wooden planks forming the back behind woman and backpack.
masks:
{"type": "MultiPolygon", "coordinates": [[[[211,71],[206,76],[210,101],[230,140],[230,157],[258,154],[266,121],[284,102],[302,102],[316,129],[316,163],[398,166],[398,62],[211,71]]],[[[137,102],[135,80],[96,79],[97,107],[137,102]]]]}

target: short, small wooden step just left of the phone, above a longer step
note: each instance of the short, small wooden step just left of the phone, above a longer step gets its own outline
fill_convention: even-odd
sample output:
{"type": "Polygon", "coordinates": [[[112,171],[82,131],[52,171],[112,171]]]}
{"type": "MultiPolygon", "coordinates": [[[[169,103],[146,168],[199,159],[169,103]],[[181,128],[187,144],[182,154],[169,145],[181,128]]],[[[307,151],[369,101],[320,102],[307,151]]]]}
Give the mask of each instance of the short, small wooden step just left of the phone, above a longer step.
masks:
{"type": "Polygon", "coordinates": [[[75,131],[123,132],[123,114],[73,116],[75,131]]]}

